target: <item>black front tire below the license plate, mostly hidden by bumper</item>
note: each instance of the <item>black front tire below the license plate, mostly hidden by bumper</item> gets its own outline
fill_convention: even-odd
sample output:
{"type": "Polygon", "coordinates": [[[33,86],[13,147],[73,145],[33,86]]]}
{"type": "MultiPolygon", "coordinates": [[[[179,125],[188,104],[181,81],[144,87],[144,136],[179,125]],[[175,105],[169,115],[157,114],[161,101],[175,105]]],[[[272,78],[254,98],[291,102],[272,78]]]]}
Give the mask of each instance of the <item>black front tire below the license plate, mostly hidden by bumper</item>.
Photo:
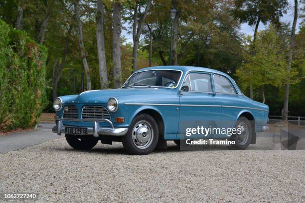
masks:
{"type": "Polygon", "coordinates": [[[98,143],[99,139],[92,135],[65,134],[68,144],[74,149],[88,150],[98,143]]]}

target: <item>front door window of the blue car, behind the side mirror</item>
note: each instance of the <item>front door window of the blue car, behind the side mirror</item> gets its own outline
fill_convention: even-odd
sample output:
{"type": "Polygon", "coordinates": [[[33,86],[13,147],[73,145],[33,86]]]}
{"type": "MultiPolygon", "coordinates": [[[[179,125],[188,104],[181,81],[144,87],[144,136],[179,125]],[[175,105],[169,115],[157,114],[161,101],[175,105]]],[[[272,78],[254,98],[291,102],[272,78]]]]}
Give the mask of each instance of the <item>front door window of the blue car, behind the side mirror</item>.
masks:
{"type": "Polygon", "coordinates": [[[185,79],[184,85],[192,92],[212,92],[209,74],[190,73],[185,79]]]}

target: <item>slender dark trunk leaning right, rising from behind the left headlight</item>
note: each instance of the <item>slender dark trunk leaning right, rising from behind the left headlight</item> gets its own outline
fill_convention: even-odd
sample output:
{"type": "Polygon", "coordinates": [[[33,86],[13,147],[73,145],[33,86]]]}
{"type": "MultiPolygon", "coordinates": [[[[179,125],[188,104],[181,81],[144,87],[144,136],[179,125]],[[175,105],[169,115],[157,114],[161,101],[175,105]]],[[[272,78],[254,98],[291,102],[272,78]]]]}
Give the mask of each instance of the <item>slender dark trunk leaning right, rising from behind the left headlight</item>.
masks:
{"type": "Polygon", "coordinates": [[[68,53],[68,46],[69,46],[69,40],[70,40],[71,32],[72,32],[72,24],[70,25],[70,27],[68,29],[68,32],[67,32],[60,67],[57,70],[56,67],[57,67],[57,64],[58,64],[58,59],[56,59],[56,61],[54,63],[54,66],[53,66],[53,101],[56,100],[56,98],[57,98],[57,84],[58,84],[58,81],[61,77],[62,70],[63,70],[63,68],[65,66],[65,63],[66,63],[66,57],[67,57],[67,53],[68,53]]]}

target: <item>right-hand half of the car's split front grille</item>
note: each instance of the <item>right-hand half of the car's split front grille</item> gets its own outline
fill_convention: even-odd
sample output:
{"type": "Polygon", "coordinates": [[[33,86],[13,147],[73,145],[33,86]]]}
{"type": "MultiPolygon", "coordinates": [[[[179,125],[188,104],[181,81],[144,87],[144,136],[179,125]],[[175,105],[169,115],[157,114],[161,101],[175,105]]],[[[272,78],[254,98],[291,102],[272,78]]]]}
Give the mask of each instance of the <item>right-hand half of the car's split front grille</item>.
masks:
{"type": "Polygon", "coordinates": [[[82,119],[110,119],[110,114],[104,106],[84,106],[82,119]]]}

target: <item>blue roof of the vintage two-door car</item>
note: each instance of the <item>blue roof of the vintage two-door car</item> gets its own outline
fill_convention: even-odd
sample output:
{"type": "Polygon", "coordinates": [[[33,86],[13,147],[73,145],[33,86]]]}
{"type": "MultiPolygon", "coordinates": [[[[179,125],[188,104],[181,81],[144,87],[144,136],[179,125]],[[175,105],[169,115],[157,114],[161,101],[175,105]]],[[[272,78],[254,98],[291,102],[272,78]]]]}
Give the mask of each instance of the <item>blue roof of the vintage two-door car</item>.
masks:
{"type": "Polygon", "coordinates": [[[216,74],[224,75],[232,80],[232,78],[230,76],[228,76],[227,74],[225,74],[221,71],[217,71],[217,70],[210,69],[210,68],[196,67],[196,66],[152,66],[149,68],[139,69],[136,72],[149,71],[149,70],[155,70],[155,69],[179,70],[179,71],[183,71],[183,73],[186,73],[188,71],[205,71],[205,72],[209,72],[209,73],[216,73],[216,74]]]}

